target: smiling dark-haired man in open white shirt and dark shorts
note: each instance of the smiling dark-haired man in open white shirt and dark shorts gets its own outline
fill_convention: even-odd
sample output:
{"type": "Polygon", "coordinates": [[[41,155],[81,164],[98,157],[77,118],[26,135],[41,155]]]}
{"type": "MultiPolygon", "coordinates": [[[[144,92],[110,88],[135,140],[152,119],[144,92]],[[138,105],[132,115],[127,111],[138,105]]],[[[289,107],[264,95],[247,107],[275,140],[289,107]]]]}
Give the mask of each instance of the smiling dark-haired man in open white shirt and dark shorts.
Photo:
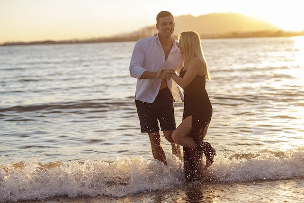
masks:
{"type": "Polygon", "coordinates": [[[173,154],[180,157],[180,148],[174,144],[172,132],[176,128],[173,101],[182,101],[183,96],[177,85],[170,79],[169,69],[180,71],[183,56],[172,38],[174,18],[168,11],[161,11],[155,24],[158,34],[144,37],[135,44],[130,63],[130,75],[137,78],[135,104],[141,132],[150,138],[152,154],[167,165],[161,147],[158,121],[165,138],[171,143],[173,154]],[[159,78],[154,74],[160,68],[159,78]]]}

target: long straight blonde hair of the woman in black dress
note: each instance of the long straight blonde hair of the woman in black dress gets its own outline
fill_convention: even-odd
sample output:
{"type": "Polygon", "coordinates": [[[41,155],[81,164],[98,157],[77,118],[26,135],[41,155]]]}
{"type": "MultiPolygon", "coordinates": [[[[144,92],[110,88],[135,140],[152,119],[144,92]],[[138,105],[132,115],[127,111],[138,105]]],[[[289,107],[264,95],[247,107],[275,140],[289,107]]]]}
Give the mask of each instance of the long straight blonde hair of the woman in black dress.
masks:
{"type": "Polygon", "coordinates": [[[189,64],[194,57],[199,57],[203,68],[203,74],[205,75],[205,80],[210,80],[211,78],[208,71],[207,62],[203,54],[199,34],[192,30],[184,31],[178,35],[178,38],[181,40],[183,46],[184,65],[189,64]]]}

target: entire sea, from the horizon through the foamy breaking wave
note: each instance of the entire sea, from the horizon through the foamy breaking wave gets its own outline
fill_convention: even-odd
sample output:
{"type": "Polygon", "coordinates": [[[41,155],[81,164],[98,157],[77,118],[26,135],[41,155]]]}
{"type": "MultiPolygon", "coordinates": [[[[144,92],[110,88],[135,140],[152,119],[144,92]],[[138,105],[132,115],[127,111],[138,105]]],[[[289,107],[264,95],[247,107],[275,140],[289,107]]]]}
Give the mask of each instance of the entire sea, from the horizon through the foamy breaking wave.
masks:
{"type": "MultiPolygon", "coordinates": [[[[184,184],[183,161],[165,138],[168,166],[140,132],[134,45],[0,46],[0,202],[120,198],[184,184]]],[[[304,37],[202,45],[214,111],[205,139],[217,149],[205,184],[303,183],[304,37]]],[[[174,106],[179,124],[183,103],[174,106]]]]}

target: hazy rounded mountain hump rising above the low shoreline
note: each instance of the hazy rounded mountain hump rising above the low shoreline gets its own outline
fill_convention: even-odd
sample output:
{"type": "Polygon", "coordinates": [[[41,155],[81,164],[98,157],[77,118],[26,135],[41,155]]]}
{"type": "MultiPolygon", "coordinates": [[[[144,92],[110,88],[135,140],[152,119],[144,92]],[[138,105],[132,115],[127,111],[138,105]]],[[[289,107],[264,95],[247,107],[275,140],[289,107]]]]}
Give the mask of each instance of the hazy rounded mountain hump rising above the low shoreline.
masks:
{"type": "MultiPolygon", "coordinates": [[[[185,30],[194,30],[202,38],[204,37],[223,37],[232,35],[250,35],[257,32],[278,32],[279,28],[264,22],[260,19],[235,13],[211,13],[198,17],[192,15],[177,16],[175,20],[174,35],[185,30]]],[[[155,25],[144,27],[132,32],[130,35],[135,37],[146,37],[157,33],[155,25]]],[[[125,35],[125,34],[124,34],[125,35]]],[[[122,36],[122,35],[120,35],[122,36]]]]}

